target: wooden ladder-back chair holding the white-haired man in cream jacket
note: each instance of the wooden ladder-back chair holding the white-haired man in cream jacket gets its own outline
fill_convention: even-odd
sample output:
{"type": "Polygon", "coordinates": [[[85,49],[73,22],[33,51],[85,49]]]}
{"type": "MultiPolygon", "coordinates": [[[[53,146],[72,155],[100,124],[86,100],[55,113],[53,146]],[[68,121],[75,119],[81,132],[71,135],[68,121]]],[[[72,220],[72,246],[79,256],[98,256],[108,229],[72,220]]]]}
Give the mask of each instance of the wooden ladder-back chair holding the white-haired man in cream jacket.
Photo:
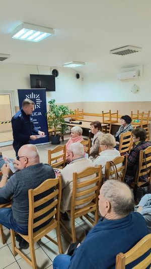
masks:
{"type": "Polygon", "coordinates": [[[99,218],[98,211],[98,196],[99,191],[102,185],[101,177],[101,166],[99,167],[89,167],[82,171],[81,173],[73,173],[73,191],[71,198],[71,210],[66,211],[70,216],[71,221],[71,233],[68,231],[66,226],[60,221],[61,226],[67,232],[67,234],[72,238],[72,242],[76,242],[75,236],[75,224],[74,221],[76,218],[85,216],[93,225],[97,224],[99,218]],[[84,177],[94,175],[93,179],[83,181],[84,177]],[[93,184],[93,185],[92,185],[93,184]],[[88,187],[87,190],[83,190],[83,187],[88,187]],[[89,195],[84,198],[84,195],[89,195]],[[82,206],[81,208],[76,208],[76,206],[83,205],[84,203],[89,202],[87,205],[82,206]],[[95,212],[95,221],[93,221],[89,216],[88,212],[95,212]]]}

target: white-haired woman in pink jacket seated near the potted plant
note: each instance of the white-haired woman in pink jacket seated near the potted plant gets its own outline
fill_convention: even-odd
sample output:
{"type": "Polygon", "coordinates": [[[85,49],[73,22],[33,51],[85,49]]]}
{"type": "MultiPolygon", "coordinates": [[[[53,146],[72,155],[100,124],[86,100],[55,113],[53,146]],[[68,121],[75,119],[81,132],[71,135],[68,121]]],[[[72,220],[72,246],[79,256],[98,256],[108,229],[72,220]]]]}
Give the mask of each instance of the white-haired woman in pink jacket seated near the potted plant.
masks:
{"type": "Polygon", "coordinates": [[[82,137],[82,133],[83,133],[83,129],[79,126],[74,126],[71,128],[71,134],[70,134],[70,138],[66,143],[66,163],[70,162],[70,158],[69,158],[69,147],[72,143],[75,142],[81,142],[83,141],[83,137],[82,137]]]}

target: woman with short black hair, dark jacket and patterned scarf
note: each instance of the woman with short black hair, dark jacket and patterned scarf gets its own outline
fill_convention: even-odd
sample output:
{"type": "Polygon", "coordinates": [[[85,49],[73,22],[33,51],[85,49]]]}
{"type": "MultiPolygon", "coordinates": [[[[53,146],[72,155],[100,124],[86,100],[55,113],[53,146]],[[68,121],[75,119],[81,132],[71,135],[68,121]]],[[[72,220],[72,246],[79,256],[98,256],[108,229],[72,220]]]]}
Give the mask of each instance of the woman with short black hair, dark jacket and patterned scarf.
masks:
{"type": "Polygon", "coordinates": [[[131,125],[132,119],[128,115],[122,116],[120,121],[121,121],[121,126],[115,135],[116,149],[119,148],[121,134],[124,134],[128,131],[131,132],[133,130],[133,126],[131,125]]]}

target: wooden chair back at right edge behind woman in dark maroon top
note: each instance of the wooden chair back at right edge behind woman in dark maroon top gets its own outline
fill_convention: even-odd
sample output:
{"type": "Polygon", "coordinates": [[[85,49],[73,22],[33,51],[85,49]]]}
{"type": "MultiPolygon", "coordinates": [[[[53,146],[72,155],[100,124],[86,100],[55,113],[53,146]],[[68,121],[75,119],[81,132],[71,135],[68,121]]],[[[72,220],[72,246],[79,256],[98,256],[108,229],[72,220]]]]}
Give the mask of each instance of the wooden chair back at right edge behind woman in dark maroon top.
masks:
{"type": "Polygon", "coordinates": [[[135,183],[138,186],[144,184],[144,182],[139,182],[139,177],[146,175],[148,181],[150,182],[151,176],[151,146],[147,147],[144,150],[140,150],[139,152],[139,164],[138,169],[135,177],[135,183]],[[144,153],[143,153],[144,152],[144,153]],[[145,157],[144,157],[145,155],[145,157]]]}

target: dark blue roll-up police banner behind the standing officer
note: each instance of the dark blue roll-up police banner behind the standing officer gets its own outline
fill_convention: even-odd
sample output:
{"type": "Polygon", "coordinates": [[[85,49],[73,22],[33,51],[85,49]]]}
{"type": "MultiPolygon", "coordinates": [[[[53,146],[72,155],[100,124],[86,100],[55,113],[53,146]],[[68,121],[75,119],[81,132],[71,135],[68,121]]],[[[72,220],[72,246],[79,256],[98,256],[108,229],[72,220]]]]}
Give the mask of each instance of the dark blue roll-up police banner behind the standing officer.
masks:
{"type": "Polygon", "coordinates": [[[22,108],[22,102],[28,98],[34,101],[35,109],[32,112],[33,123],[39,131],[45,132],[46,137],[30,140],[30,144],[46,144],[49,143],[48,125],[46,118],[46,89],[18,89],[19,106],[22,108]]]}

